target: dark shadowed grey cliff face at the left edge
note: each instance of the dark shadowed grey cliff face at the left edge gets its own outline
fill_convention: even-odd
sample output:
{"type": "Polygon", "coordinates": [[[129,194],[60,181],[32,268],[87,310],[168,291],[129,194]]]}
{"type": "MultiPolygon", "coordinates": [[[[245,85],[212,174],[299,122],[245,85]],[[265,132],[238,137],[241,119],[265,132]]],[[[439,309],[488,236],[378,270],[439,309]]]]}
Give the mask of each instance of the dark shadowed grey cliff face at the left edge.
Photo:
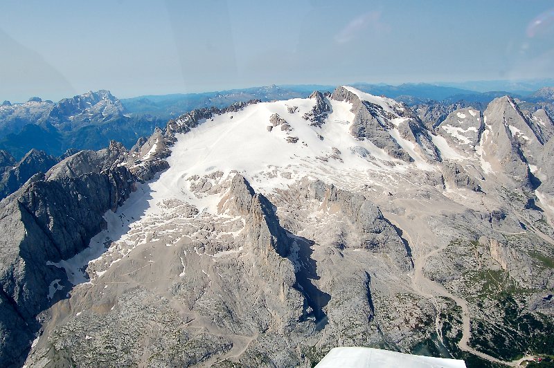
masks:
{"type": "Polygon", "coordinates": [[[51,180],[37,175],[1,201],[1,365],[17,362],[30,347],[39,328],[35,316],[55,302],[46,297],[51,283],[58,279],[69,287],[61,281],[66,280],[64,272],[47,262],[73,257],[87,247],[105,227],[102,215],[118,208],[133,187],[125,167],[51,180]]]}

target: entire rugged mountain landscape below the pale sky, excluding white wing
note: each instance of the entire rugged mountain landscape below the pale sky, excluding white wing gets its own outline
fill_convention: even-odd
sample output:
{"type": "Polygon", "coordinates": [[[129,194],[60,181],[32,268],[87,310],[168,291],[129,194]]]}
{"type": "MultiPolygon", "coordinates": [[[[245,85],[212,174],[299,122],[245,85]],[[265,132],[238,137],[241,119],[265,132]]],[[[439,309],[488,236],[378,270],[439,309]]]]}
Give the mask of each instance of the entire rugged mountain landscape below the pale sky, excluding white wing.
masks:
{"type": "Polygon", "coordinates": [[[107,91],[4,104],[4,148],[32,129],[59,144],[0,151],[0,366],[554,355],[552,90],[357,87],[210,96],[231,104],[148,138],[107,91]],[[80,129],[126,142],[83,149],[80,129]]]}

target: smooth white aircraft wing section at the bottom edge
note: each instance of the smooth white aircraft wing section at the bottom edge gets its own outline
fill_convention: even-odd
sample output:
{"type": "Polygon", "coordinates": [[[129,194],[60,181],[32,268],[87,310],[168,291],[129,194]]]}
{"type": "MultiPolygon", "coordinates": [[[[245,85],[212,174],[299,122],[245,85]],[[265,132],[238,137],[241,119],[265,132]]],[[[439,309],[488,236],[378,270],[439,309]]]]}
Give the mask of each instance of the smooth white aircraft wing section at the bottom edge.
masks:
{"type": "Polygon", "coordinates": [[[463,360],[413,356],[369,347],[336,347],[316,368],[465,368],[463,360]]]}

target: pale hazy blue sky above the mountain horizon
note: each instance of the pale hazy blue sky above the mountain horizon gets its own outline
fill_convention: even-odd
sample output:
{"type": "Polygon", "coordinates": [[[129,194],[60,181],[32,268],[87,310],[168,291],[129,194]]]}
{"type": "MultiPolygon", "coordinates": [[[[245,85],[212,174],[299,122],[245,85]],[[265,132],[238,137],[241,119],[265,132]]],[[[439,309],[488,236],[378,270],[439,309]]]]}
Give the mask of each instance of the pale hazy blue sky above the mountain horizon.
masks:
{"type": "Polygon", "coordinates": [[[0,3],[0,101],[554,77],[554,1],[0,3]]]}

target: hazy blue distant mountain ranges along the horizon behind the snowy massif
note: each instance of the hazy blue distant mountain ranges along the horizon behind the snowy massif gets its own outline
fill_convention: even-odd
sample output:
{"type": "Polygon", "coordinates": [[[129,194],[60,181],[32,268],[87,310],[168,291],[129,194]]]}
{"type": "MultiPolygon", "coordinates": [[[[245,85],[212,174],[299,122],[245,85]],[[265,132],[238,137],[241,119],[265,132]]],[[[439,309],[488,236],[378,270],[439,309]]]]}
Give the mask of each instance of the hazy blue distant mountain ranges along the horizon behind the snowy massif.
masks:
{"type": "MultiPolygon", "coordinates": [[[[535,104],[537,109],[545,109],[551,114],[554,111],[552,88],[519,95],[510,91],[482,93],[457,86],[422,83],[399,86],[357,83],[353,86],[373,95],[386,95],[409,106],[435,106],[435,110],[443,111],[439,114],[443,118],[454,105],[456,108],[481,108],[494,98],[508,94],[535,104]]],[[[144,95],[122,100],[109,91],[100,90],[64,98],[60,102],[43,101],[37,97],[24,103],[4,101],[0,105],[0,149],[19,160],[30,149],[62,156],[68,149],[101,149],[110,140],[117,140],[130,148],[139,138],[152,134],[156,127],[163,127],[168,120],[193,109],[222,108],[249,100],[268,102],[306,98],[314,90],[325,92],[333,89],[334,86],[328,85],[271,85],[206,93],[144,95]]]]}

